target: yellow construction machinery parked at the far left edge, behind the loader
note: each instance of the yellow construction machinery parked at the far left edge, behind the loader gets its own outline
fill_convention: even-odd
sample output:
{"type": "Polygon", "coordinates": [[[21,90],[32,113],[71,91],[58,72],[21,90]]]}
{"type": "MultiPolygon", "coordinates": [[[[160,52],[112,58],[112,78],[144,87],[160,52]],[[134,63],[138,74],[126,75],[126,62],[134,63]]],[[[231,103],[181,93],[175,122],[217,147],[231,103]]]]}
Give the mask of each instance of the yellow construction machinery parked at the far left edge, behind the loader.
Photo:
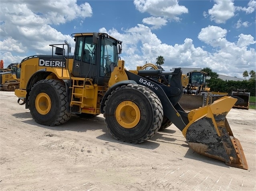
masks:
{"type": "MultiPolygon", "coordinates": [[[[18,63],[11,63],[6,68],[4,68],[4,61],[0,61],[0,90],[1,91],[14,91],[20,87],[20,82],[18,81],[16,74],[19,75],[17,71],[18,63]]],[[[18,69],[19,70],[19,69],[18,69]]],[[[19,76],[18,76],[19,78],[19,76]]]]}

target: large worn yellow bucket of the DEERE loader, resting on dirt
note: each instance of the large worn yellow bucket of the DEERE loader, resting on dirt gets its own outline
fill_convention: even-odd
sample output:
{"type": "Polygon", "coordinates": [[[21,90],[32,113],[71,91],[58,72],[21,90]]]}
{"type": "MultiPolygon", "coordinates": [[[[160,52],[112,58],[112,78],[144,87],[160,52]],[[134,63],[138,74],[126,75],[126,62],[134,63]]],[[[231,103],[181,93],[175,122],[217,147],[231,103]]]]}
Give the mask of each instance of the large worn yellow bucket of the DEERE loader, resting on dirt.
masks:
{"type": "Polygon", "coordinates": [[[227,165],[248,169],[242,146],[233,136],[226,115],[236,102],[224,96],[214,103],[191,110],[183,129],[188,145],[199,154],[225,161],[227,165]]]}

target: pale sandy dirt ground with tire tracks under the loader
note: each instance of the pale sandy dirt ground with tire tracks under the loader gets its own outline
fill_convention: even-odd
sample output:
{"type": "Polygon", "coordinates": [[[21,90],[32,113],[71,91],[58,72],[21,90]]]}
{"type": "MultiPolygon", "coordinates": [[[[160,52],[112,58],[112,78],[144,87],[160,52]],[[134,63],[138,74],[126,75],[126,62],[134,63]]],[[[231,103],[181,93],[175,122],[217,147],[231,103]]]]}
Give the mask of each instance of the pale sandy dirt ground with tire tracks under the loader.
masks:
{"type": "Polygon", "coordinates": [[[256,110],[232,108],[227,119],[249,169],[193,152],[174,125],[142,144],[107,132],[102,115],[42,126],[0,91],[1,191],[255,191],[256,110]]]}

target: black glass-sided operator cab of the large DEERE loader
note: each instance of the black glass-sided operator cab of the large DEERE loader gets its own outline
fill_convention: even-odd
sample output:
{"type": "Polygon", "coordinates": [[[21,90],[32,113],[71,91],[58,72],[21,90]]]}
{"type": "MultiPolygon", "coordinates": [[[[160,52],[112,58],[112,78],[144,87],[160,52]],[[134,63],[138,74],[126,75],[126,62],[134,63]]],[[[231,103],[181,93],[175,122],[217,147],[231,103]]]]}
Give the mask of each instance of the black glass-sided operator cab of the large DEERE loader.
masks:
{"type": "Polygon", "coordinates": [[[108,85],[113,68],[121,53],[121,41],[106,33],[75,33],[74,77],[93,79],[98,85],[108,85]]]}

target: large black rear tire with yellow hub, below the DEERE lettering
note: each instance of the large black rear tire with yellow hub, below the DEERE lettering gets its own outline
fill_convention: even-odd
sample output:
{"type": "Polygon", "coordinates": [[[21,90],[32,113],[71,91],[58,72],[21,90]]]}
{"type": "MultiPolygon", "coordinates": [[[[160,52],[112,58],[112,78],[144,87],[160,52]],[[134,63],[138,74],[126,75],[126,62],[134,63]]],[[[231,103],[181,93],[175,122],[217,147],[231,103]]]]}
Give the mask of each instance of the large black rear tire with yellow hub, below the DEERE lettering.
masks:
{"type": "Polygon", "coordinates": [[[58,80],[38,81],[32,87],[28,100],[30,113],[39,124],[55,126],[71,118],[65,84],[58,80]]]}

